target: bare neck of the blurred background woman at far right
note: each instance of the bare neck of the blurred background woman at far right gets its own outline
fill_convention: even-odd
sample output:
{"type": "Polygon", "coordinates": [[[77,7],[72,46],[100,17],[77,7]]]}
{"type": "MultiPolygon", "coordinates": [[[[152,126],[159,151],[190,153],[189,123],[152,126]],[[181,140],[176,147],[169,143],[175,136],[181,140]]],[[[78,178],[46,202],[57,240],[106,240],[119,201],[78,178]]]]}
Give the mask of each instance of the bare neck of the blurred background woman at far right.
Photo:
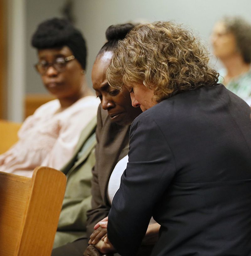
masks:
{"type": "Polygon", "coordinates": [[[228,58],[222,59],[222,63],[226,67],[228,80],[250,69],[250,64],[245,63],[240,54],[234,54],[228,58]]]}

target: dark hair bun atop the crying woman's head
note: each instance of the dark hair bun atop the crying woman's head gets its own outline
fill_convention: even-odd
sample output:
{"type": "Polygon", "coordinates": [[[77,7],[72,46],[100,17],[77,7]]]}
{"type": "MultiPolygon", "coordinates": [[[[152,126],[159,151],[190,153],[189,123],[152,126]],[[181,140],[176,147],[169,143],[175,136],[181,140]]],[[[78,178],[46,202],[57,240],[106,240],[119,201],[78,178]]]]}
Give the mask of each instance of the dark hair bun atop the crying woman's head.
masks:
{"type": "Polygon", "coordinates": [[[131,23],[111,25],[105,31],[107,41],[123,40],[126,34],[134,27],[131,23]]]}

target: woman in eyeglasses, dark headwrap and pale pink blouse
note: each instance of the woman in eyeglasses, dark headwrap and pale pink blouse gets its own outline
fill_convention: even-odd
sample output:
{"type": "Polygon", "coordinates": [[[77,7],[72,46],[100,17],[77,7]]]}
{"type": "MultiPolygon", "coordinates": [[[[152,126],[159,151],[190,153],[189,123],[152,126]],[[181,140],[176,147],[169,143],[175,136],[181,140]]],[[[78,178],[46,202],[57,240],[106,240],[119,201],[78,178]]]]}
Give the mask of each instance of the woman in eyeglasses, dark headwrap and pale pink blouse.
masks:
{"type": "Polygon", "coordinates": [[[19,130],[19,141],[0,156],[0,171],[27,177],[36,166],[61,169],[67,163],[100,103],[85,79],[85,41],[67,20],[41,23],[32,45],[38,50],[35,67],[46,89],[57,99],[28,117],[19,130]]]}

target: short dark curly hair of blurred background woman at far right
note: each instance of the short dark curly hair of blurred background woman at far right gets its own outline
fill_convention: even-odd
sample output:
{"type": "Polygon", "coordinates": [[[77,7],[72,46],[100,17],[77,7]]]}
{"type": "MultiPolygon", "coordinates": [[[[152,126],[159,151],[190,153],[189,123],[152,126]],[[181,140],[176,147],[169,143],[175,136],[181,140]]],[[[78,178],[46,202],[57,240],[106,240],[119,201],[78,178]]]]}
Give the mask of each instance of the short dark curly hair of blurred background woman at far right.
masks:
{"type": "Polygon", "coordinates": [[[251,24],[241,17],[224,17],[226,30],[232,33],[245,63],[251,63],[251,24]]]}

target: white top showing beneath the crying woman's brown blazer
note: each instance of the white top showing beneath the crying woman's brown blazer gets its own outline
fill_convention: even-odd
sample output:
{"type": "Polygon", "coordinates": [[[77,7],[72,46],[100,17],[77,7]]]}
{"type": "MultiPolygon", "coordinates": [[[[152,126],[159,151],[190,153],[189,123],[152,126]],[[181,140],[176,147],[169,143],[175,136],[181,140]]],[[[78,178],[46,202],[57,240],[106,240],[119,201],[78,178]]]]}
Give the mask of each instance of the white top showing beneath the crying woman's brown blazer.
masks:
{"type": "Polygon", "coordinates": [[[115,193],[120,188],[121,176],[126,169],[126,165],[128,163],[128,155],[120,159],[120,161],[115,165],[113,172],[110,176],[108,183],[108,200],[109,203],[112,204],[112,199],[115,196],[115,193]]]}

